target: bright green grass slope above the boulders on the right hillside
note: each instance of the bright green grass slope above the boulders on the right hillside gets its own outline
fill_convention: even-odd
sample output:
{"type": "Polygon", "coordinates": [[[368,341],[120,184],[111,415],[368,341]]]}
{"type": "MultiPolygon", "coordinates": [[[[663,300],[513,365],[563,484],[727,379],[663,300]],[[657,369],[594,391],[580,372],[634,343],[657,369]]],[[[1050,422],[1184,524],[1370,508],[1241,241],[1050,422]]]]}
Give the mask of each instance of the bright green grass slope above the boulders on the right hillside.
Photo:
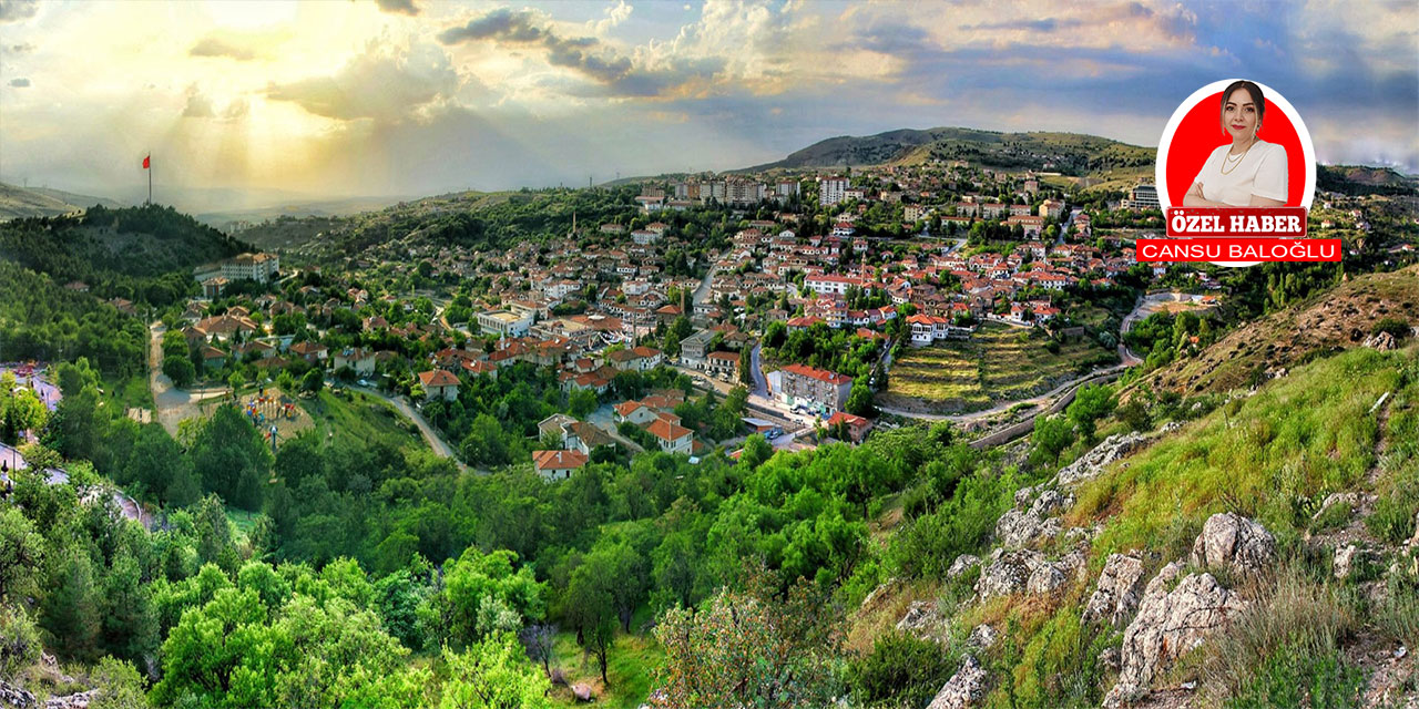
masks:
{"type": "MultiPolygon", "coordinates": [[[[1069,522],[1108,518],[1095,559],[1128,549],[1185,552],[1192,529],[1226,510],[1291,539],[1327,493],[1366,485],[1379,435],[1368,410],[1401,387],[1412,356],[1357,349],[1304,366],[1086,484],[1069,522]]],[[[1410,381],[1396,400],[1416,394],[1419,381],[1410,381]]]]}

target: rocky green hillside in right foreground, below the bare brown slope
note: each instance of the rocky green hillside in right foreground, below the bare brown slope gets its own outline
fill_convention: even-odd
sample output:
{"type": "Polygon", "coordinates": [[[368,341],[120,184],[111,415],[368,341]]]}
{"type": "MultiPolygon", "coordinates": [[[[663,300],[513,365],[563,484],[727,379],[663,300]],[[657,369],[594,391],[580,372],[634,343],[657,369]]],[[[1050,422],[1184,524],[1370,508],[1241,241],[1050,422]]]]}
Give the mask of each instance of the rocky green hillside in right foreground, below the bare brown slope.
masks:
{"type": "MultiPolygon", "coordinates": [[[[1405,706],[1419,681],[1416,354],[1410,339],[1298,366],[1252,396],[1154,403],[1141,431],[1105,418],[1061,461],[1077,462],[999,506],[973,486],[922,513],[908,492],[881,537],[887,559],[907,560],[888,570],[908,573],[849,628],[893,688],[876,696],[1405,706]]],[[[1010,458],[1039,461],[1034,438],[1010,458]]]]}

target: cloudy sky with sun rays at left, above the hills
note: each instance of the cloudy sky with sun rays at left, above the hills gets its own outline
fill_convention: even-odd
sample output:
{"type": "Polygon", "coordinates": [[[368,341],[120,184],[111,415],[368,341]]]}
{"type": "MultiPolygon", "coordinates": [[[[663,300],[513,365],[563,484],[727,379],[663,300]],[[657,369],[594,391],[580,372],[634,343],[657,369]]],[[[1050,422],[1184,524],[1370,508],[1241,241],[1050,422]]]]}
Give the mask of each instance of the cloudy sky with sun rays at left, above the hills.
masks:
{"type": "Polygon", "coordinates": [[[1321,162],[1415,173],[1416,28],[1415,0],[0,0],[0,182],[140,199],[152,152],[156,191],[210,208],[728,170],[898,128],[1155,146],[1235,77],[1321,162]]]}

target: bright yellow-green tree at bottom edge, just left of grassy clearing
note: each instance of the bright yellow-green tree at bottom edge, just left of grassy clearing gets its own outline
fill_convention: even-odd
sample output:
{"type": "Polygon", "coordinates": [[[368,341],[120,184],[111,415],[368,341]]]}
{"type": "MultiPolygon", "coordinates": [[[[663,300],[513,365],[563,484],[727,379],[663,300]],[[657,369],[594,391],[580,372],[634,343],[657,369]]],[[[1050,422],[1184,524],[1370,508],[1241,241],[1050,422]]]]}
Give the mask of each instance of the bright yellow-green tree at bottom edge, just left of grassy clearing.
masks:
{"type": "Polygon", "coordinates": [[[440,709],[541,709],[552,703],[548,678],[532,666],[511,632],[484,638],[465,652],[444,649],[448,679],[440,709]]]}

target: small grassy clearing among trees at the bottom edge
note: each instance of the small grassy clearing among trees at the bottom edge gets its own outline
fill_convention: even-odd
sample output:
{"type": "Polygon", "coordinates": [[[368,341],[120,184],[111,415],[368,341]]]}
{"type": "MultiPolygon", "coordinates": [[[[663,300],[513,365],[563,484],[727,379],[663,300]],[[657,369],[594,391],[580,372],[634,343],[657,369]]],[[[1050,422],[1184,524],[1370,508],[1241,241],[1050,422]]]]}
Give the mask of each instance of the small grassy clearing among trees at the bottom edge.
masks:
{"type": "MultiPolygon", "coordinates": [[[[640,614],[637,614],[640,615],[640,614]]],[[[637,627],[633,621],[631,627],[637,627]]],[[[602,685],[600,666],[596,657],[582,652],[576,645],[575,632],[558,632],[552,644],[552,668],[566,674],[568,686],[553,686],[553,706],[576,706],[570,685],[585,682],[596,692],[596,706],[612,709],[636,709],[650,695],[656,668],[666,659],[664,651],[654,638],[647,635],[617,635],[606,659],[606,676],[610,685],[602,685]]]]}

